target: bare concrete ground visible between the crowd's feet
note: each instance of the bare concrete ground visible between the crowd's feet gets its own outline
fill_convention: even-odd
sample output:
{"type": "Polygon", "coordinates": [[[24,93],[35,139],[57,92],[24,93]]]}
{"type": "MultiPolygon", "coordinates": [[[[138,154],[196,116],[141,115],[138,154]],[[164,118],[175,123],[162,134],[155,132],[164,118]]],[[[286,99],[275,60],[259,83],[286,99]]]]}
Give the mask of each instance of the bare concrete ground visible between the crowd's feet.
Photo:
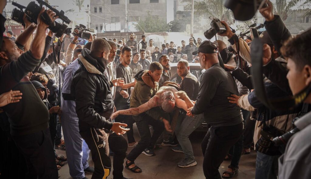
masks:
{"type": "MultiPolygon", "coordinates": [[[[123,175],[127,178],[134,179],[204,179],[202,163],[203,155],[201,151],[201,141],[206,132],[194,132],[190,136],[190,140],[193,147],[193,152],[197,161],[197,165],[188,168],[179,168],[177,163],[183,159],[183,153],[174,152],[171,150],[172,147],[162,147],[162,149],[156,150],[155,156],[146,156],[141,154],[135,164],[137,164],[141,169],[142,173],[133,173],[128,169],[124,168],[123,175]]],[[[136,125],[134,124],[134,135],[135,139],[139,141],[140,137],[137,132],[136,125]]],[[[124,135],[126,138],[126,135],[124,135]]],[[[127,139],[127,138],[126,138],[127,139]]],[[[127,153],[129,153],[133,148],[128,148],[127,153]]],[[[59,155],[66,156],[65,151],[56,150],[59,155]]],[[[112,157],[111,157],[112,160],[112,157]]],[[[255,161],[256,152],[252,150],[251,154],[242,155],[239,163],[239,173],[234,176],[235,179],[252,179],[255,178],[255,161]]],[[[112,161],[113,162],[113,161],[112,161]]],[[[94,167],[94,163],[90,157],[90,166],[94,167]]],[[[220,174],[222,174],[230,165],[230,161],[224,161],[219,168],[220,174]]],[[[113,169],[112,169],[113,170],[113,169]]],[[[63,166],[58,173],[61,175],[61,179],[72,179],[69,175],[69,168],[66,164],[63,166]]],[[[91,174],[86,174],[86,177],[91,179],[91,174]]],[[[112,172],[110,173],[108,179],[113,179],[112,172]]]]}

